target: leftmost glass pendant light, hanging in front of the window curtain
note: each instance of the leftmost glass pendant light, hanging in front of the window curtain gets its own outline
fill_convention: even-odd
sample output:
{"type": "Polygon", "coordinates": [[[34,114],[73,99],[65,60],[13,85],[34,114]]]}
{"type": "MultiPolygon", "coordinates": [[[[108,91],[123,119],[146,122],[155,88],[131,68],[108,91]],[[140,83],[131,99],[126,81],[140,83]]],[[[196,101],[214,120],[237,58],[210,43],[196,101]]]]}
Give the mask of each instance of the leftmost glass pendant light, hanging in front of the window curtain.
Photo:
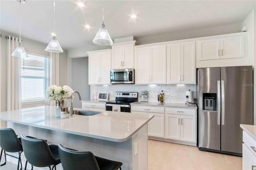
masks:
{"type": "MultiPolygon", "coordinates": [[[[21,3],[25,3],[25,0],[18,0],[20,2],[20,32],[21,32],[21,3]]],[[[21,39],[19,39],[19,44],[16,49],[13,51],[12,56],[14,57],[28,57],[25,49],[22,47],[21,39]]]]}

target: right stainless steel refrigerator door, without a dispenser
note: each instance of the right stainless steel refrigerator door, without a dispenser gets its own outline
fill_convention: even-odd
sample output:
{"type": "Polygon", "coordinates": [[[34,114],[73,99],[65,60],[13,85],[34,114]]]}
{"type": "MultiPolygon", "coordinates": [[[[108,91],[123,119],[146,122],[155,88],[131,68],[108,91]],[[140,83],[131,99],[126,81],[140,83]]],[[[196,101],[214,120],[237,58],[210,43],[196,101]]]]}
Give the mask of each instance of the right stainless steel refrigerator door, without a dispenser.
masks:
{"type": "Polygon", "coordinates": [[[240,124],[253,124],[252,66],[221,67],[221,150],[242,154],[240,124]]]}

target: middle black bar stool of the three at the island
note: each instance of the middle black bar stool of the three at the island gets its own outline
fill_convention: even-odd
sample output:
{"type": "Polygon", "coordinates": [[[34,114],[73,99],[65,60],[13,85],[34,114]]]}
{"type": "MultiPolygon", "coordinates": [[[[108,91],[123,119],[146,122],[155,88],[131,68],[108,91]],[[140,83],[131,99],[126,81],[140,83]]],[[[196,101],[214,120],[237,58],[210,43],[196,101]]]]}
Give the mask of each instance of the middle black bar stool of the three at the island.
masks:
{"type": "Polygon", "coordinates": [[[60,163],[58,146],[48,145],[43,139],[32,139],[20,134],[24,155],[26,157],[25,170],[27,163],[37,167],[49,167],[53,170],[60,163]],[[53,166],[52,166],[53,165],[53,166]],[[52,166],[52,168],[51,168],[52,166]]]}

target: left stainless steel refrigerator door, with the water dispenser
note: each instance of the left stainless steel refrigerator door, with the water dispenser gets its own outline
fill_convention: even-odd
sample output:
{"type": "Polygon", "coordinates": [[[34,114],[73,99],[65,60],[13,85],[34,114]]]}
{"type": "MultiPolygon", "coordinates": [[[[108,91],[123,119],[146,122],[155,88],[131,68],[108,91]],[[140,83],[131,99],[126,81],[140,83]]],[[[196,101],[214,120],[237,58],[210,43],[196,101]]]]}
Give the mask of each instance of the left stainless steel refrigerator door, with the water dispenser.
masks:
{"type": "Polygon", "coordinates": [[[198,146],[200,148],[220,150],[220,67],[200,68],[198,69],[197,76],[197,90],[199,95],[198,146]],[[217,102],[217,111],[203,110],[203,103],[206,105],[203,99],[203,93],[215,93],[217,101],[219,101],[217,102]]]}

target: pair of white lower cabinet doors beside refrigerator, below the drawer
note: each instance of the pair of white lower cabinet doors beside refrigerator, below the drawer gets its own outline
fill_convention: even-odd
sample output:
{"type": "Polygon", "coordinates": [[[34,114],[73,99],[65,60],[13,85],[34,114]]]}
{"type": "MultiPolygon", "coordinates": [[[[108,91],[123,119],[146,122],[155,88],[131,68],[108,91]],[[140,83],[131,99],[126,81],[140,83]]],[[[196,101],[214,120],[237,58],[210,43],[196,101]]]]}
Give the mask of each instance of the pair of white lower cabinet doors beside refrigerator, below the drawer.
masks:
{"type": "Polygon", "coordinates": [[[165,114],[165,137],[168,139],[196,142],[196,117],[165,114]]]}

